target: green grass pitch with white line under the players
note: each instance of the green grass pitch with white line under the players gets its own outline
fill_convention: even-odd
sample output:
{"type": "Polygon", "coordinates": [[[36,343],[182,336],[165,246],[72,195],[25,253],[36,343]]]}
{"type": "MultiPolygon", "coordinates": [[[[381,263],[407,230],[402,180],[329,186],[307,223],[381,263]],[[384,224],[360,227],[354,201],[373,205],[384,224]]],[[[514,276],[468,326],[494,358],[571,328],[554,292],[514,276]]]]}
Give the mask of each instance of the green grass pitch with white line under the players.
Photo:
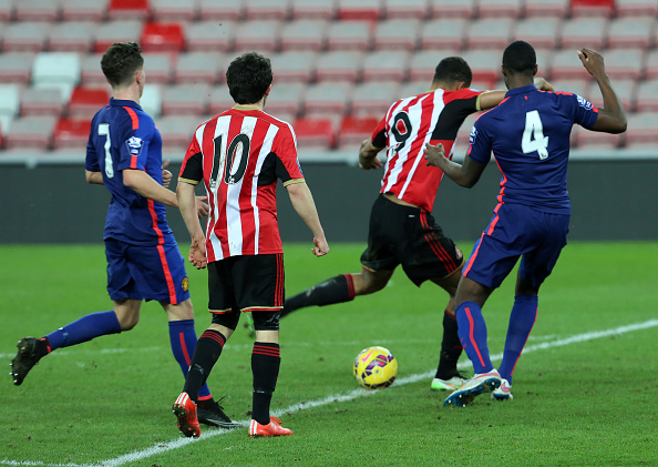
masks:
{"type": "MultiPolygon", "coordinates": [[[[289,295],[360,270],[362,244],[331,244],[322,258],[310,248],[285,245],[289,295]]],[[[135,329],[61,348],[12,386],[19,338],[111,302],[102,245],[2,245],[0,257],[0,465],[658,466],[658,243],[567,245],[542,288],[512,402],[484,395],[463,409],[442,406],[445,394],[429,387],[446,294],[429,283],[419,290],[398,271],[378,294],[281,322],[273,410],[294,436],[250,439],[246,428],[202,426],[192,443],[171,413],[183,378],[157,304],[143,306],[135,329]],[[366,392],[352,376],[354,356],[370,345],[399,362],[390,388],[366,392]]],[[[206,273],[188,273],[201,334],[206,273]]],[[[503,349],[512,301],[513,277],[484,308],[492,355],[503,349]]],[[[245,422],[251,343],[240,325],[208,382],[216,398],[226,396],[226,413],[245,422]]],[[[465,356],[462,364],[470,370],[465,356]]]]}

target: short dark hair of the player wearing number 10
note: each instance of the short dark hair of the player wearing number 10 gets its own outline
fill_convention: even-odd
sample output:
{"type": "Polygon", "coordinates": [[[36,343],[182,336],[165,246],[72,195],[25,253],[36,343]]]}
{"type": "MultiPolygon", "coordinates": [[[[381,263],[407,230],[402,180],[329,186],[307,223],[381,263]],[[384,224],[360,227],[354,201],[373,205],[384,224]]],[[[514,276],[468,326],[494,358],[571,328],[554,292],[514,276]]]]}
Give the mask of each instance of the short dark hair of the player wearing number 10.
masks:
{"type": "Polygon", "coordinates": [[[226,84],[238,104],[258,102],[271,84],[271,63],[257,52],[246,52],[230,62],[226,70],[226,84]]]}

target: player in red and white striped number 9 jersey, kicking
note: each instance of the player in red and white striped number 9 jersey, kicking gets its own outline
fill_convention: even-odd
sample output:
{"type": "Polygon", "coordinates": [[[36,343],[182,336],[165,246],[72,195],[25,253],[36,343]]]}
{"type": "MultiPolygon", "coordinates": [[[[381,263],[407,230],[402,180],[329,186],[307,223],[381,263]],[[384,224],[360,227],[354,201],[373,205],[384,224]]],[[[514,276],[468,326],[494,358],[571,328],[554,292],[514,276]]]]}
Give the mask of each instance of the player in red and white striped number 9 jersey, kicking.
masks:
{"type": "MultiPolygon", "coordinates": [[[[425,143],[442,143],[448,154],[465,118],[491,109],[504,91],[470,89],[472,72],[459,57],[436,65],[429,92],[394,102],[372,138],[359,150],[359,166],[383,166],[377,154],[385,148],[387,162],[380,195],[370,214],[368,247],[361,255],[361,273],[328,278],[286,301],[281,316],[311,306],[330,305],[381,291],[398,265],[420,287],[431,281],[444,288],[449,302],[443,314],[443,341],[432,389],[455,389],[464,379],[456,364],[462,353],[454,318],[454,294],[461,276],[462,252],[443,235],[431,214],[441,170],[422,162],[425,143]]],[[[543,79],[538,84],[551,89],[543,79]]]]}

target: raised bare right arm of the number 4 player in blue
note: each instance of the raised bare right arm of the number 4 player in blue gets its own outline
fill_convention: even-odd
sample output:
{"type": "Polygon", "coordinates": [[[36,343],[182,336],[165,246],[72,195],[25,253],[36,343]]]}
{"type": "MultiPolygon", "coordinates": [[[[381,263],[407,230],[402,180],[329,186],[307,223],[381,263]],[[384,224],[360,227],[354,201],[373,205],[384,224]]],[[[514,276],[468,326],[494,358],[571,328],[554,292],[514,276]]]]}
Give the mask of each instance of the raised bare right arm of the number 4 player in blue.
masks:
{"type": "Polygon", "coordinates": [[[578,58],[598,83],[604,100],[603,109],[598,109],[598,116],[594,125],[589,128],[593,131],[603,131],[606,133],[624,133],[626,131],[626,112],[624,105],[613,89],[610,79],[606,73],[604,59],[594,50],[578,50],[578,58]]]}

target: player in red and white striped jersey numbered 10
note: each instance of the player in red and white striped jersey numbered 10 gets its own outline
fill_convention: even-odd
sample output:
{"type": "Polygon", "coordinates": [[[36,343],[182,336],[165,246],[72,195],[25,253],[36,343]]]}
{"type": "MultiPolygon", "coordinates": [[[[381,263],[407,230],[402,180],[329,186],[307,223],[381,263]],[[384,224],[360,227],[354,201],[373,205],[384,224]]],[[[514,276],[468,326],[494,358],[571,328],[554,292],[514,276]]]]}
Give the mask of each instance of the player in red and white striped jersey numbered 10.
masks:
{"type": "Polygon", "coordinates": [[[312,253],[329,252],[312,195],[297,160],[290,124],[265,113],[271,90],[269,59],[248,52],[226,71],[236,105],[198,126],[183,161],[176,190],[192,236],[189,261],[208,268],[208,311],[213,321],[192,357],[183,393],[174,403],[181,433],[198,437],[198,392],[230,337],[240,313],[251,313],[256,342],[249,436],[292,432],[269,416],[280,366],[279,315],[284,307],[284,251],[276,209],[281,180],[292,206],[313,234],[312,253]],[[194,189],[206,189],[210,214],[206,235],[195,213],[194,189]]]}

